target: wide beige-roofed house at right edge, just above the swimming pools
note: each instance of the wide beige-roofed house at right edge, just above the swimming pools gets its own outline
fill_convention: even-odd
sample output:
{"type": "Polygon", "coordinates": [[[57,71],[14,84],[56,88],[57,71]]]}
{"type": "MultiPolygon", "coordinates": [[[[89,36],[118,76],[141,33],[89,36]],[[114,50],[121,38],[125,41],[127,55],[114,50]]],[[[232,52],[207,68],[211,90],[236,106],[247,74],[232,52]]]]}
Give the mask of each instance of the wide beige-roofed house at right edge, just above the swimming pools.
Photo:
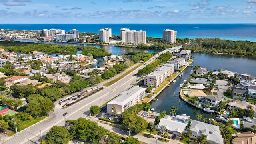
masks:
{"type": "Polygon", "coordinates": [[[249,105],[252,106],[252,110],[254,112],[256,111],[256,106],[254,104],[250,104],[249,102],[245,102],[245,101],[235,100],[233,102],[229,102],[227,105],[228,105],[227,110],[229,111],[234,110],[236,108],[247,109],[247,106],[249,105]]]}

